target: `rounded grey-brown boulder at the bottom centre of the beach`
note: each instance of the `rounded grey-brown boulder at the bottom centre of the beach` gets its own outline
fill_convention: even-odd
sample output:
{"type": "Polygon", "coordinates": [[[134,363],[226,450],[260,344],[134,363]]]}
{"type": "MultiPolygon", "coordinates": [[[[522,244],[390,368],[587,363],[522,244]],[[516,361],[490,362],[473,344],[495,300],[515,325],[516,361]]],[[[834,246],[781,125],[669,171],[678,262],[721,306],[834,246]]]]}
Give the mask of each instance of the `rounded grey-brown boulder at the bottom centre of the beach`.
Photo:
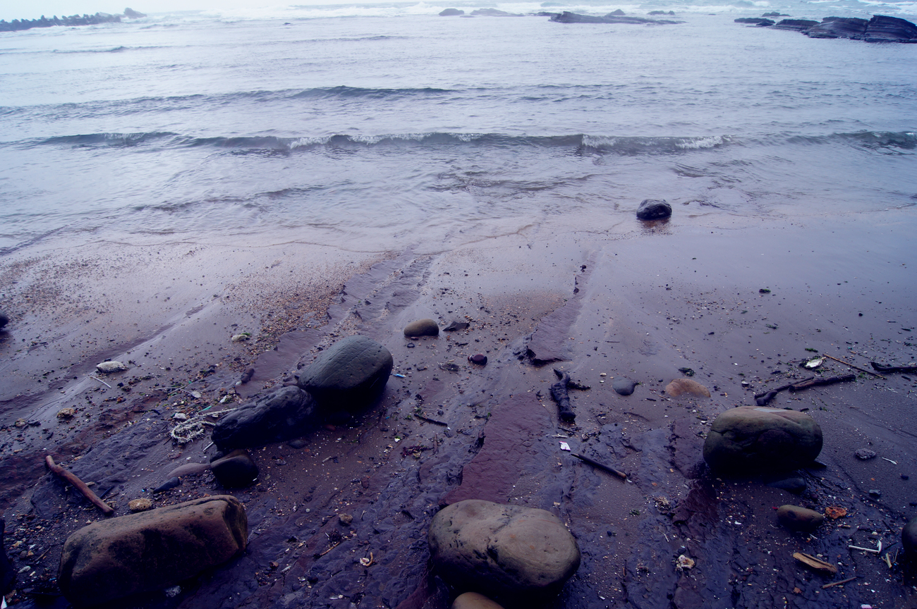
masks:
{"type": "Polygon", "coordinates": [[[567,527],[531,507],[459,501],[436,514],[427,541],[439,574],[459,592],[502,603],[543,602],[580,567],[580,549],[567,527]]]}

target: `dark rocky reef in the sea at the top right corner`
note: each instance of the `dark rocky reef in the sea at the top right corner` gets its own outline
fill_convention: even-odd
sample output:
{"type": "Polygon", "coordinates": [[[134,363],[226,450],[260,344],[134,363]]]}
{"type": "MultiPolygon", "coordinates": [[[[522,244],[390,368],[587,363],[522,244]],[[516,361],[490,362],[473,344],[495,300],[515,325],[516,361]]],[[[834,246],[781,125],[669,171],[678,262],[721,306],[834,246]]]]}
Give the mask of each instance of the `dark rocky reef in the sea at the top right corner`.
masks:
{"type": "Polygon", "coordinates": [[[871,19],[827,16],[819,23],[809,19],[783,19],[774,23],[763,17],[742,17],[735,23],[747,23],[773,29],[795,29],[809,38],[849,38],[866,42],[917,43],[917,26],[896,16],[874,15],[871,19]]]}

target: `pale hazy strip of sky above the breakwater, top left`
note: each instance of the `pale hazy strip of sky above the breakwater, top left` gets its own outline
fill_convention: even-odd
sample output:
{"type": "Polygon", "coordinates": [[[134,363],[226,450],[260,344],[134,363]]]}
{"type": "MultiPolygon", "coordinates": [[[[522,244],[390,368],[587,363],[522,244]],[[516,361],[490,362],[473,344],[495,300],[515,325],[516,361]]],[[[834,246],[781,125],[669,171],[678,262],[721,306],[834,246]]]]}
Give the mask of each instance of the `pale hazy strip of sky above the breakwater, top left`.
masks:
{"type": "Polygon", "coordinates": [[[83,13],[121,13],[130,6],[141,13],[208,8],[258,7],[277,5],[362,4],[368,0],[0,0],[0,19],[35,19],[83,13]]]}

